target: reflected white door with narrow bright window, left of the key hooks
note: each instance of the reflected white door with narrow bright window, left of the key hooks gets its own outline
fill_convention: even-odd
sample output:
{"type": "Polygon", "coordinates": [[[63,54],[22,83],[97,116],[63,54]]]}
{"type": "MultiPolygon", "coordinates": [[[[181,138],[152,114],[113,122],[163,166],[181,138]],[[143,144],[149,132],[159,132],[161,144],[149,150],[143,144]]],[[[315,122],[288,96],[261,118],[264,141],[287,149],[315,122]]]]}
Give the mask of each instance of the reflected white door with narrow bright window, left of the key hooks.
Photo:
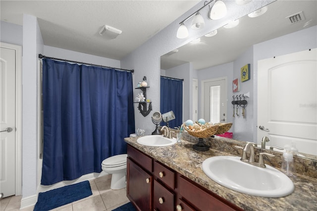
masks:
{"type": "Polygon", "coordinates": [[[226,122],[227,82],[226,78],[202,81],[203,118],[212,123],[226,122]]]}

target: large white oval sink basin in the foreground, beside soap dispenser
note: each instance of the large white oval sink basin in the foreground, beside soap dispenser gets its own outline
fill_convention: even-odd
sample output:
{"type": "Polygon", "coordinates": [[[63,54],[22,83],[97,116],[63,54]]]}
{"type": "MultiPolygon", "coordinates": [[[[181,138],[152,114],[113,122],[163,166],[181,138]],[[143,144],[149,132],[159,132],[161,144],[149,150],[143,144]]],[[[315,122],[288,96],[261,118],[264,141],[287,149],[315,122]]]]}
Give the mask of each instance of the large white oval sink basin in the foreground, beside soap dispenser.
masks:
{"type": "Polygon", "coordinates": [[[216,183],[253,196],[278,198],[294,191],[294,184],[281,171],[266,165],[257,167],[239,157],[216,156],[203,162],[203,171],[216,183]]]}

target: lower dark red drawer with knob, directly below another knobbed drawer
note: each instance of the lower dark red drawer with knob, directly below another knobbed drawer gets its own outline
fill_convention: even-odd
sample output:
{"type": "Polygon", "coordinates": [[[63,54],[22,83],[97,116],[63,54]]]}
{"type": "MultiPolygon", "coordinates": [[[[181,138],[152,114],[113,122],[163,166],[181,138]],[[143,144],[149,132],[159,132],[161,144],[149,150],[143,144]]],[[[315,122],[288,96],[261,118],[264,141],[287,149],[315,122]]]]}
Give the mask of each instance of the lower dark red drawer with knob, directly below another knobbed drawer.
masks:
{"type": "Polygon", "coordinates": [[[173,211],[174,194],[154,180],[153,206],[155,211],[173,211]]]}

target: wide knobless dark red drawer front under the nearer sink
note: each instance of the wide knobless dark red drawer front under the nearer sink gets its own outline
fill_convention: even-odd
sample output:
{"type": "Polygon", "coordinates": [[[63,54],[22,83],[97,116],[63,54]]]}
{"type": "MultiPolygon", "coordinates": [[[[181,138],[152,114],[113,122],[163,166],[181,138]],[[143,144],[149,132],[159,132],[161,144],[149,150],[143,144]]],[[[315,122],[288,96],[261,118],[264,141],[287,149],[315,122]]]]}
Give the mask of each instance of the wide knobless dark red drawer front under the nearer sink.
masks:
{"type": "Polygon", "coordinates": [[[187,179],[182,176],[178,177],[179,179],[179,194],[186,201],[190,202],[195,210],[200,211],[234,211],[241,210],[230,202],[225,202],[225,199],[220,198],[219,196],[212,195],[200,187],[189,182],[187,179]]]}

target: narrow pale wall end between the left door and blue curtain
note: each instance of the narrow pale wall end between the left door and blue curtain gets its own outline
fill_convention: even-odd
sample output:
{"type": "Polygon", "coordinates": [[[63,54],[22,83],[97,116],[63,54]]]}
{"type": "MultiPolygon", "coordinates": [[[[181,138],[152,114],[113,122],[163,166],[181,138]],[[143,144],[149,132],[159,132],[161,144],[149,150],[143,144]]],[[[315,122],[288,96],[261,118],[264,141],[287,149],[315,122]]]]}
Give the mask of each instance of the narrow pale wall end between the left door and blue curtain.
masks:
{"type": "MultiPolygon", "coordinates": [[[[42,37],[34,16],[23,15],[22,56],[22,195],[37,189],[37,57],[42,37]],[[39,46],[38,46],[39,43],[39,46]]],[[[23,200],[23,199],[22,199],[23,200]]]]}

